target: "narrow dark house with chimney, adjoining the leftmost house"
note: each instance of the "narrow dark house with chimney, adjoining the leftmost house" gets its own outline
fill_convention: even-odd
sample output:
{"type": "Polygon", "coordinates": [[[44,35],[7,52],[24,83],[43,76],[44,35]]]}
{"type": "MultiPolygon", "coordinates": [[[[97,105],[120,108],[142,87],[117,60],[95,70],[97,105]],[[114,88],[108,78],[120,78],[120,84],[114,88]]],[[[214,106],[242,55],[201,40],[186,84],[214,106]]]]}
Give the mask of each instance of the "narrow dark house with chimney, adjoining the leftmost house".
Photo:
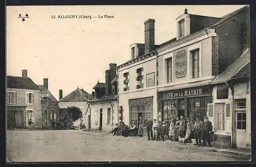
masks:
{"type": "Polygon", "coordinates": [[[44,85],[38,85],[41,90],[41,111],[42,127],[52,127],[52,122],[57,122],[58,118],[58,101],[48,89],[48,78],[44,78],[44,85]]]}

